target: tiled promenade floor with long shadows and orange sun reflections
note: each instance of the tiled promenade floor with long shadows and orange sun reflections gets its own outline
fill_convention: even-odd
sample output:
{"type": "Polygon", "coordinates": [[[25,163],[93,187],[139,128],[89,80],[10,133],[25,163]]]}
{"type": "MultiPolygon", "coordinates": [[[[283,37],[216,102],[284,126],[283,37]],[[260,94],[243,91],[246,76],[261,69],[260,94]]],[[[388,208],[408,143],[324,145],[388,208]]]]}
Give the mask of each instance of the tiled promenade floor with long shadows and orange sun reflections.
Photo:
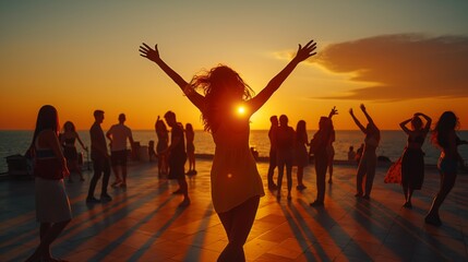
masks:
{"type": "MultiPolygon", "coordinates": [[[[209,160],[197,162],[187,209],[178,209],[181,196],[171,194],[177,184],[159,180],[154,164],[132,164],[129,187],[110,189],[113,201],[106,204],[85,204],[89,172],[85,182],[67,183],[74,219],[53,254],[70,261],[216,261],[227,240],[211,203],[209,167],[209,160]]],[[[267,164],[259,169],[265,179],[267,164]]],[[[244,246],[247,260],[468,261],[468,176],[458,176],[436,228],[423,223],[439,187],[436,170],[428,169],[412,210],[401,207],[399,186],[383,182],[385,170],[377,169],[370,201],[355,199],[352,166],[335,166],[323,209],[309,206],[316,192],[312,166],[308,189],[293,189],[290,202],[266,191],[244,246]]],[[[38,243],[33,181],[0,181],[0,261],[24,261],[38,243]]]]}

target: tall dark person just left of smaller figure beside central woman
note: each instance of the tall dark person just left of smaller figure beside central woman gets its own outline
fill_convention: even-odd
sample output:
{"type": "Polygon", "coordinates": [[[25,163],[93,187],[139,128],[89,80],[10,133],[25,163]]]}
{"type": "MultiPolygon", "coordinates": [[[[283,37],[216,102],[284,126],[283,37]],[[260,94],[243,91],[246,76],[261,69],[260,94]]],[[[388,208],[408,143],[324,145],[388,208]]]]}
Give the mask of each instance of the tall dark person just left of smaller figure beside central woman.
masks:
{"type": "Polygon", "coordinates": [[[176,114],[167,111],[164,115],[167,124],[171,128],[170,130],[170,144],[161,152],[161,154],[168,155],[169,174],[168,179],[176,179],[179,183],[179,189],[175,191],[175,194],[183,194],[183,201],[179,204],[180,207],[190,205],[189,187],[185,180],[185,141],[183,139],[183,128],[181,123],[177,122],[176,114]]]}

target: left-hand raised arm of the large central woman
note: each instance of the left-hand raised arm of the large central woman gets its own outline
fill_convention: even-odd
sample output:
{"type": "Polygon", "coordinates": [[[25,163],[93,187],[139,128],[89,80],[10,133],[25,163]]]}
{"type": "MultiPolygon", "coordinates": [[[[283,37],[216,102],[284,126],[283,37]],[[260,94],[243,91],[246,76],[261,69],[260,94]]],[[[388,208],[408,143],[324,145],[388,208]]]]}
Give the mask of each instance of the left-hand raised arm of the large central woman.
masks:
{"type": "Polygon", "coordinates": [[[157,49],[157,45],[155,48],[151,48],[145,43],[140,46],[140,56],[147,58],[148,60],[155,62],[159,68],[173,81],[177,85],[179,85],[180,90],[187,95],[187,97],[199,109],[202,109],[203,105],[203,96],[196,93],[190,85],[173,71],[159,56],[159,50],[157,49]]]}

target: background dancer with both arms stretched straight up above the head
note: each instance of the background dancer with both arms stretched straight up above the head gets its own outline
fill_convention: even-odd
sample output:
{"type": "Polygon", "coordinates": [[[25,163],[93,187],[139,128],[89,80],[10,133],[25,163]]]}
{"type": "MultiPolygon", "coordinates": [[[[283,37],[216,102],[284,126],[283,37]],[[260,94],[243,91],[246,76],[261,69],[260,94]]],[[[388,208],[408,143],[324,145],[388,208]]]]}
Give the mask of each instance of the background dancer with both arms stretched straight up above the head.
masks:
{"type": "Polygon", "coordinates": [[[374,182],[375,168],[377,165],[377,155],[375,151],[377,150],[379,143],[381,141],[381,131],[375,126],[375,122],[369,116],[365,106],[361,104],[360,106],[362,112],[364,114],[368,124],[362,126],[361,122],[356,118],[352,108],[349,109],[349,114],[352,117],[352,120],[358,126],[358,128],[365,134],[364,139],[364,148],[362,156],[360,157],[358,165],[358,172],[356,176],[356,189],[357,193],[355,196],[369,200],[371,198],[372,184],[374,182]],[[365,178],[365,184],[363,180],[365,178]]]}

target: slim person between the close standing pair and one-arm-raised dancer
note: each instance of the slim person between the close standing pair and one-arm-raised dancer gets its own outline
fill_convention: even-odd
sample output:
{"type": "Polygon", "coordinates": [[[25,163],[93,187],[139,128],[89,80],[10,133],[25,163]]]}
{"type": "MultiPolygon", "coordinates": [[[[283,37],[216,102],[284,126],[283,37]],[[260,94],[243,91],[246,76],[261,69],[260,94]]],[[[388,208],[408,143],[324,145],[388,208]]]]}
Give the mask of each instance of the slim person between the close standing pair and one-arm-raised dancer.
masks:
{"type": "Polygon", "coordinates": [[[307,146],[309,146],[308,131],[305,128],[305,121],[299,120],[296,126],[296,136],[295,136],[295,160],[298,166],[297,177],[298,186],[297,190],[304,190],[307,187],[303,183],[304,167],[309,165],[309,152],[307,146]]]}

